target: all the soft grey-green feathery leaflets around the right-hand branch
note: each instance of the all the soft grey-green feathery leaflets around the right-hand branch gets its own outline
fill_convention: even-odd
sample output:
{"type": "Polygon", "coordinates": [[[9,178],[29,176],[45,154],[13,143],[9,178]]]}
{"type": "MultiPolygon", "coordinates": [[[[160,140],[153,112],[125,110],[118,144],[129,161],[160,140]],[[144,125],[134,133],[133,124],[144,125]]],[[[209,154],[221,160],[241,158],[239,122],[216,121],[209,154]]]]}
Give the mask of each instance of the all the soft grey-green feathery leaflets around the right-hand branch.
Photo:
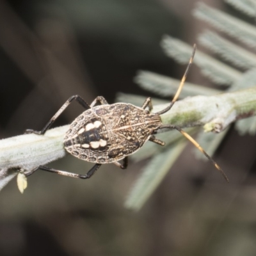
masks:
{"type": "MultiPolygon", "coordinates": [[[[234,8],[245,13],[249,17],[255,17],[256,3],[249,0],[226,0],[228,4],[232,4],[234,8]]],[[[256,48],[256,28],[232,15],[216,10],[207,4],[198,3],[193,15],[196,19],[207,22],[217,31],[228,35],[229,39],[218,35],[213,31],[205,31],[198,36],[200,44],[204,45],[212,53],[216,54],[220,59],[213,58],[203,52],[196,51],[196,56],[193,61],[197,65],[202,74],[208,77],[216,85],[228,85],[228,91],[236,91],[244,88],[250,88],[256,85],[256,54],[249,51],[248,47],[256,48]],[[230,37],[234,38],[244,44],[245,47],[237,45],[230,41],[230,37]],[[245,49],[246,48],[246,49],[245,49]],[[230,66],[232,65],[232,66],[230,66]]],[[[192,52],[192,47],[177,38],[171,36],[164,36],[161,42],[164,52],[180,64],[188,63],[189,56],[192,52]]],[[[154,74],[152,72],[140,71],[135,78],[138,83],[145,90],[156,93],[160,96],[168,96],[175,92],[179,85],[179,81],[173,78],[154,74]]],[[[221,91],[204,88],[197,84],[186,83],[181,97],[188,95],[214,95],[221,91]],[[190,94],[191,93],[191,94],[190,94]]],[[[125,95],[122,95],[124,100],[125,95]]],[[[239,134],[256,133],[256,118],[254,116],[239,120],[235,125],[239,134]]],[[[195,131],[195,130],[194,130],[195,131]]],[[[210,156],[214,154],[218,145],[227,134],[228,128],[220,134],[200,133],[198,142],[210,156]]],[[[173,136],[174,133],[172,133],[173,136]]],[[[161,135],[161,134],[160,134],[161,135]]],[[[164,134],[164,140],[168,140],[168,135],[164,134]]],[[[157,150],[157,145],[148,143],[145,150],[141,149],[138,156],[132,156],[137,161],[151,157],[150,162],[145,166],[140,178],[132,188],[127,201],[126,207],[131,209],[140,209],[146,202],[147,198],[154,192],[163,180],[164,175],[172,167],[175,159],[184,148],[184,141],[179,144],[180,136],[173,138],[173,141],[168,141],[168,147],[157,150]],[[148,152],[148,154],[147,154],[148,152]],[[158,152],[158,154],[155,154],[158,152]],[[161,153],[161,154],[160,154],[161,153]],[[156,172],[157,170],[157,172],[156,172]]],[[[198,151],[198,150],[195,150],[198,151]]],[[[197,156],[204,157],[200,152],[197,156]]]]}

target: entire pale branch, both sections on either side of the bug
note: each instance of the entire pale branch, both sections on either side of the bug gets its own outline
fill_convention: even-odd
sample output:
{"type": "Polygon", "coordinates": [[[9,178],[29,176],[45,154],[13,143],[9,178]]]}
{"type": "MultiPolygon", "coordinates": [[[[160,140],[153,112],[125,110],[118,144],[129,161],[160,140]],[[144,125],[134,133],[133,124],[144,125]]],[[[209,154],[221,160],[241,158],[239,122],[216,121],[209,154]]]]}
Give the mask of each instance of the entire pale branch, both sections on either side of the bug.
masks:
{"type": "MultiPolygon", "coordinates": [[[[164,105],[155,106],[160,111],[164,105]]],[[[161,116],[163,124],[179,127],[204,125],[205,131],[223,131],[231,122],[256,114],[256,87],[216,96],[179,100],[161,116]]],[[[0,140],[0,189],[15,177],[13,169],[29,171],[65,156],[63,136],[68,126],[51,129],[44,136],[24,134],[0,140]]]]}

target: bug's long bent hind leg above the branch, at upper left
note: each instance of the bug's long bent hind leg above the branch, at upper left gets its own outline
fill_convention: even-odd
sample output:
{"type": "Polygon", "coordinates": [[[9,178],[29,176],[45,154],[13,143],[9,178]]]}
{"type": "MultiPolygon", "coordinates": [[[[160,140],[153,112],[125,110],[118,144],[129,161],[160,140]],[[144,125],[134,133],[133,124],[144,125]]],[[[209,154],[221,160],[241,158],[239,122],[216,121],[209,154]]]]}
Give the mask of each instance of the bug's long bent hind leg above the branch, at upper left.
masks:
{"type": "Polygon", "coordinates": [[[57,113],[54,116],[52,116],[51,120],[49,120],[49,122],[45,125],[45,127],[41,131],[34,131],[32,129],[27,129],[25,133],[44,134],[51,127],[51,125],[56,120],[56,118],[58,118],[58,116],[60,116],[61,113],[68,107],[68,105],[70,104],[70,102],[72,102],[72,100],[76,100],[85,109],[91,108],[90,105],[82,97],[80,97],[79,95],[73,95],[63,104],[63,106],[57,111],[57,113]]]}

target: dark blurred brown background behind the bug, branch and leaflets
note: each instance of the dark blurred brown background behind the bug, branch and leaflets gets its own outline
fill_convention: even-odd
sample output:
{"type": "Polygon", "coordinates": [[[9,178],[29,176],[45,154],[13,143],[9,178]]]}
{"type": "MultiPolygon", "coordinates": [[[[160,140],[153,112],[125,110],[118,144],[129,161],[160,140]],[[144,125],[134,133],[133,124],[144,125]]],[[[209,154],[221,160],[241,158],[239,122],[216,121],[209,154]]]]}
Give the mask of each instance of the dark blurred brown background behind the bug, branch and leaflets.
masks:
{"type": "MultiPolygon", "coordinates": [[[[184,67],[159,42],[196,42],[195,2],[0,0],[0,138],[42,129],[74,94],[147,97],[132,82],[140,69],[180,79],[184,67]]],[[[194,67],[188,80],[209,84],[194,67]]],[[[56,125],[81,111],[72,104],[56,125]]],[[[0,193],[0,255],[256,255],[255,142],[228,132],[214,159],[230,184],[187,147],[139,212],[123,203],[144,163],[106,164],[85,181],[36,172],[24,195],[12,180],[0,193]]],[[[67,156],[49,166],[85,173],[92,164],[67,156]]]]}

